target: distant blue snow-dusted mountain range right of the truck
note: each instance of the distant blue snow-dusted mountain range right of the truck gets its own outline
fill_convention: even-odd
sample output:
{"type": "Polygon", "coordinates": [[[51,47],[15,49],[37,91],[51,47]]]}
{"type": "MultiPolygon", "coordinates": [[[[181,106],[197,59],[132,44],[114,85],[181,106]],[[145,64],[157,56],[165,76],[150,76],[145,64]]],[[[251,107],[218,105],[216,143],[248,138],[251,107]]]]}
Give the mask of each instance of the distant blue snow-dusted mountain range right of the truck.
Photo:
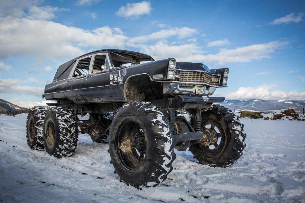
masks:
{"type": "Polygon", "coordinates": [[[247,100],[225,100],[220,103],[224,107],[232,110],[254,110],[254,111],[272,111],[292,108],[295,111],[303,112],[305,108],[305,100],[262,100],[262,99],[247,99],[247,100]]]}

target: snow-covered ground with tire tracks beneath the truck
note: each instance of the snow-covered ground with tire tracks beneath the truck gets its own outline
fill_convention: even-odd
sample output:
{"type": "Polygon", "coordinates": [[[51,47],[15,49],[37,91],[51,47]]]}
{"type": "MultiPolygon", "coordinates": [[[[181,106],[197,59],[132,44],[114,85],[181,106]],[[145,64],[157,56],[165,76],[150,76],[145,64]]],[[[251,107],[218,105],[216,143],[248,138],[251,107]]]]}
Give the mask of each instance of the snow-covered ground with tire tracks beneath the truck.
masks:
{"type": "Polygon", "coordinates": [[[233,166],[203,166],[176,151],[167,180],[136,189],[113,173],[108,145],[89,136],[72,157],[32,151],[26,116],[0,116],[0,202],[305,202],[304,121],[241,118],[247,146],[233,166]]]}

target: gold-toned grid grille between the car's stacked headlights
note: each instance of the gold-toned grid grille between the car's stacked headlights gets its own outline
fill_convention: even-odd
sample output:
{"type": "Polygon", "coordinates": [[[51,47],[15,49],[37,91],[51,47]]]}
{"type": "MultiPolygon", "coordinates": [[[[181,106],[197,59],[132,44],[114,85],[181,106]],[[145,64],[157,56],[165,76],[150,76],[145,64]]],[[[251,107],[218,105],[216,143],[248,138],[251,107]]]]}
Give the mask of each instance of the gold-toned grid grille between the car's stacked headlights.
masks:
{"type": "Polygon", "coordinates": [[[207,83],[210,85],[219,85],[220,75],[212,75],[210,73],[201,71],[188,71],[188,70],[177,70],[175,76],[176,82],[189,82],[189,83],[207,83]]]}

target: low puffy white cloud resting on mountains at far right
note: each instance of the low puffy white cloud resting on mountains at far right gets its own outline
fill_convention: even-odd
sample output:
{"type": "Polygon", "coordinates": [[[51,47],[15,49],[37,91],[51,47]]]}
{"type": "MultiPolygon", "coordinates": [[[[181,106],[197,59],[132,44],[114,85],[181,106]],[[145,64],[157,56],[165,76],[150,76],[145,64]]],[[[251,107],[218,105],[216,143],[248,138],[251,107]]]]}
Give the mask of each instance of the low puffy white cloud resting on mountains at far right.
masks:
{"type": "Polygon", "coordinates": [[[290,91],[284,92],[281,90],[271,91],[274,87],[277,87],[276,84],[263,84],[258,87],[239,87],[235,92],[229,92],[225,95],[226,99],[264,99],[264,100],[272,100],[272,99],[304,99],[304,92],[290,91]]]}

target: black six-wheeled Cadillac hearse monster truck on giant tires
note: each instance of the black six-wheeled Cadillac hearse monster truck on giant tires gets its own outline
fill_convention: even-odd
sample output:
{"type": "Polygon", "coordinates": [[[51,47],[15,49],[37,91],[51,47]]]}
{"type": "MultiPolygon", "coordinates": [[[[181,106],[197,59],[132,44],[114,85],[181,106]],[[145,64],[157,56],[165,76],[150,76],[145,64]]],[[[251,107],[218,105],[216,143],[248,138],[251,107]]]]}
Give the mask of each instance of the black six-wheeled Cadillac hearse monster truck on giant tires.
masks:
{"type": "Polygon", "coordinates": [[[231,166],[246,134],[235,114],[213,105],[224,98],[210,97],[228,72],[131,51],[90,52],[59,66],[45,86],[43,97],[56,103],[29,112],[27,143],[60,158],[74,154],[80,134],[109,142],[114,173],[135,187],[164,181],[174,148],[189,148],[201,164],[231,166]]]}

